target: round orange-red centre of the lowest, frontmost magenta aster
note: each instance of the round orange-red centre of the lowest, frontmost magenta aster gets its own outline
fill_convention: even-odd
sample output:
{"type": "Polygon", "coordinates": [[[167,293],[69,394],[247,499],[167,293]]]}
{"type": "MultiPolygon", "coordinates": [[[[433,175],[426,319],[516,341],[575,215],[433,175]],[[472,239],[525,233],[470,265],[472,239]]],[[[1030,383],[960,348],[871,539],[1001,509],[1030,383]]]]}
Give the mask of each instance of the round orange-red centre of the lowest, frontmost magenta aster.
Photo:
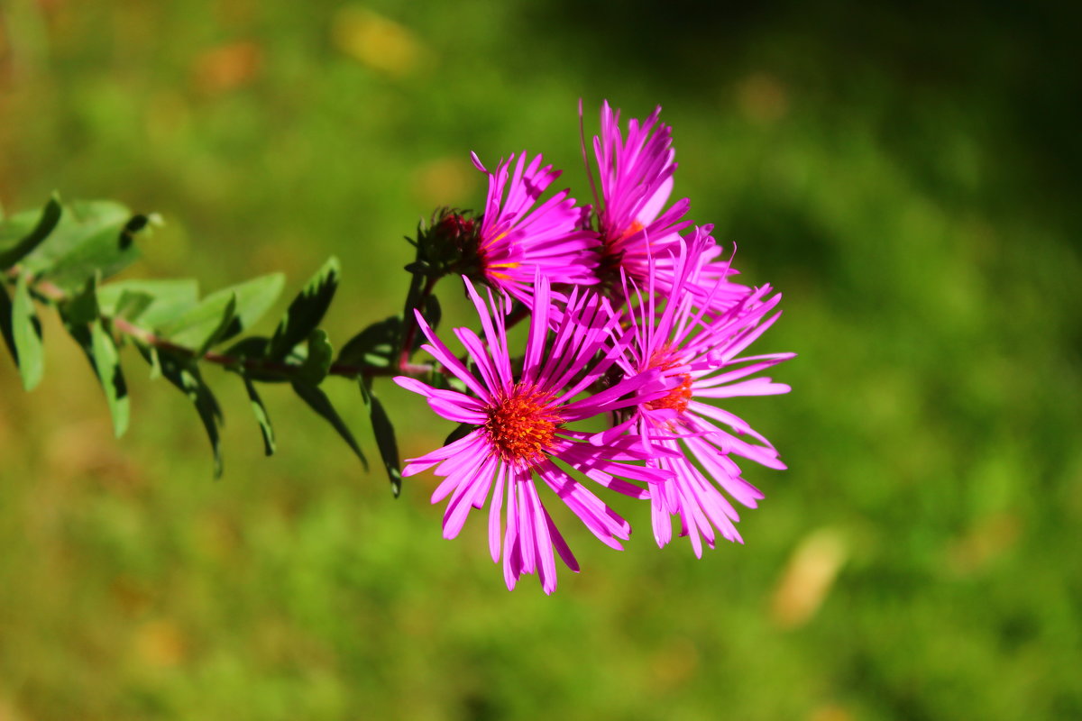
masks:
{"type": "Polygon", "coordinates": [[[532,386],[515,386],[488,406],[485,430],[506,463],[533,465],[556,443],[564,419],[552,408],[551,395],[532,386]]]}

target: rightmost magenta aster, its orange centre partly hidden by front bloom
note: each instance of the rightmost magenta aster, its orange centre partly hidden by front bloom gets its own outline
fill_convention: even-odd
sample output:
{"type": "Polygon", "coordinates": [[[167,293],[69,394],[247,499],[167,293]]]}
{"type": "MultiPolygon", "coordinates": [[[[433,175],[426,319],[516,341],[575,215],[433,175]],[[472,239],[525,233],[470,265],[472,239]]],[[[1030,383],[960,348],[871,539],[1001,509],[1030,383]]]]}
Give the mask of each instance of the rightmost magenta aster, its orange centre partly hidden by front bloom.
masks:
{"type": "Polygon", "coordinates": [[[695,233],[690,244],[673,259],[673,292],[660,299],[651,280],[645,298],[625,285],[635,342],[619,361],[620,366],[625,374],[661,370],[663,375],[643,386],[641,392],[650,398],[644,397],[631,419],[595,438],[595,442],[607,442],[612,433],[626,427],[652,450],[660,446],[668,451],[649,462],[671,472],[670,478],[651,486],[654,535],[659,546],[669,543],[670,516],[676,515],[681,535],[690,536],[699,557],[701,538],[714,547],[714,529],[725,538],[742,543],[735,525],[739,515],[727,496],[749,508],[763,497],[741,477],[733,456],[769,468],[786,467],[763,436],[735,414],[704,401],[788,392],[788,385],[752,376],[795,356],[739,357],[781,315],[767,318],[781,299],[780,295],[770,295],[768,285],[754,290],[721,315],[696,309],[695,296],[685,291],[697,282],[700,266],[696,258],[704,249],[709,249],[708,240],[695,233]],[[661,398],[656,398],[658,388],[665,389],[661,398]]]}

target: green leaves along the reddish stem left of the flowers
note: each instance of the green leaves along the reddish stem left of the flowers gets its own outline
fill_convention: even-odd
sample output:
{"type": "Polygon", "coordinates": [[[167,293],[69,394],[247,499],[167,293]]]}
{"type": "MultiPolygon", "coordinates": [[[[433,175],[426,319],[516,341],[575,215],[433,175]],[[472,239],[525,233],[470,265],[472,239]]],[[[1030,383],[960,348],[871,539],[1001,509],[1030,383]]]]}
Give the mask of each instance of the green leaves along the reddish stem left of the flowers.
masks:
{"type": "MultiPolygon", "coordinates": [[[[330,375],[356,378],[369,410],[377,444],[397,495],[400,475],[394,427],[372,390],[373,375],[395,368],[401,318],[373,323],[335,359],[320,328],[341,275],[331,257],[292,299],[269,335],[250,331],[277,303],[285,277],[272,273],[200,297],[195,279],[111,280],[138,257],[138,245],[156,215],[132,213],[111,201],[62,205],[56,197],[40,212],[0,217],[0,334],[26,390],[45,368],[41,308],[52,308],[79,345],[101,383],[119,437],[130,423],[128,384],[120,363],[133,345],[151,378],[164,378],[196,410],[222,472],[220,428],[224,414],[203,377],[208,363],[239,376],[258,423],[264,451],[277,439],[259,384],[289,384],[305,405],[342,437],[367,468],[349,427],[320,387],[330,375]]],[[[426,312],[434,320],[438,308],[426,312]]]]}

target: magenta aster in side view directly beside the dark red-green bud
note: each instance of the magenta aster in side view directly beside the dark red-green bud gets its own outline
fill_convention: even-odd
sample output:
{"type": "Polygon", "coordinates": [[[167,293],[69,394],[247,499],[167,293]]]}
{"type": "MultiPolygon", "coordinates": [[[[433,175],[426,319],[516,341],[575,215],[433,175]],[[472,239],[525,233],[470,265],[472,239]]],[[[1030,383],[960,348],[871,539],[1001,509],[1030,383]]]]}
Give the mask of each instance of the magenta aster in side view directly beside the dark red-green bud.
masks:
{"type": "MultiPolygon", "coordinates": [[[[477,170],[488,174],[488,198],[476,236],[476,256],[489,285],[530,305],[537,271],[553,283],[589,285],[597,282],[598,240],[582,229],[584,209],[563,190],[537,205],[538,199],[559,177],[541,156],[527,164],[526,152],[512,155],[489,173],[471,153],[477,170]]],[[[472,229],[472,228],[471,228],[472,229]]]]}

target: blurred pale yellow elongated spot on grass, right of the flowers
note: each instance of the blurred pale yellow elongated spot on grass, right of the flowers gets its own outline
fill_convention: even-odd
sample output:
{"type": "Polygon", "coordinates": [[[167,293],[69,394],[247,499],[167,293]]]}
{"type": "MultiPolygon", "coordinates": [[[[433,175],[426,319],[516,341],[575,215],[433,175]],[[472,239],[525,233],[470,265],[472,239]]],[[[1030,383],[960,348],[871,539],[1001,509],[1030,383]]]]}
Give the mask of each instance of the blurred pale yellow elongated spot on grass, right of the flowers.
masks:
{"type": "Polygon", "coordinates": [[[848,556],[842,534],[820,529],[801,540],[774,592],[771,616],[781,628],[803,626],[819,611],[848,556]]]}

